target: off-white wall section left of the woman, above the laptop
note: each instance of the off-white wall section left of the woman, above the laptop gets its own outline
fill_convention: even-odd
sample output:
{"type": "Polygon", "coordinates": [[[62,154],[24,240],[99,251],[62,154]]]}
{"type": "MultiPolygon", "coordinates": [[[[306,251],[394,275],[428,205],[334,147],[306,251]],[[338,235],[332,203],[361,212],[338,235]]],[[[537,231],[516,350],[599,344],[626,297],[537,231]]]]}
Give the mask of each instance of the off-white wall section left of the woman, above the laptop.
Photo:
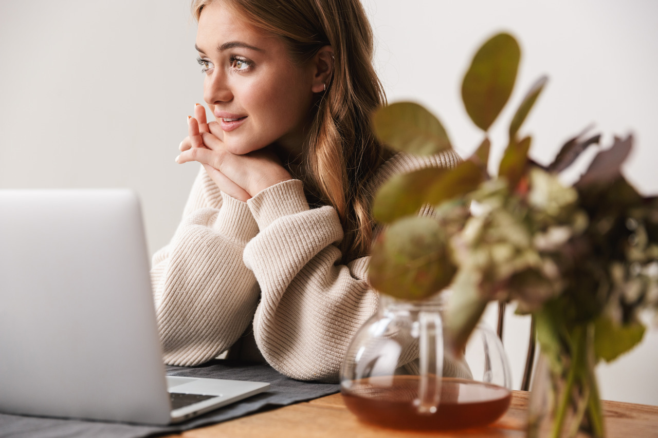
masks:
{"type": "Polygon", "coordinates": [[[188,5],[0,1],[0,187],[132,187],[165,245],[198,170],[174,162],[203,101],[188,5]]]}

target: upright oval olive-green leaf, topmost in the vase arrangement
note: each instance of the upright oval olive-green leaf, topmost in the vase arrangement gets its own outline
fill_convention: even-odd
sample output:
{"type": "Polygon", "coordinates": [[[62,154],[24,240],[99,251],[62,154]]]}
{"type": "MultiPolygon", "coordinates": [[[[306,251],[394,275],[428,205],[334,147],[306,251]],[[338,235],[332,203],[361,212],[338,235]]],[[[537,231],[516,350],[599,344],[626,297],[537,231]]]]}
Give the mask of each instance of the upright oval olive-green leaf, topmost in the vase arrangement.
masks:
{"type": "Polygon", "coordinates": [[[461,96],[473,123],[487,131],[512,93],[517,79],[519,43],[509,34],[486,41],[464,76],[461,96]]]}

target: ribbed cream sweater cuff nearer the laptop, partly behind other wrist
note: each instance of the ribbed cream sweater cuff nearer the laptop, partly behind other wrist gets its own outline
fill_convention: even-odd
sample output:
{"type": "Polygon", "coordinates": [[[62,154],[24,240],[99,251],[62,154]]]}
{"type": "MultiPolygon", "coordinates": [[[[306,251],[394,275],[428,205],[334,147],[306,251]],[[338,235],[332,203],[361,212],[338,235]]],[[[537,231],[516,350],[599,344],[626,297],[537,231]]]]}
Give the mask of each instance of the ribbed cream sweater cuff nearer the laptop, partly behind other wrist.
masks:
{"type": "Polygon", "coordinates": [[[215,230],[235,243],[245,245],[258,234],[258,224],[251,216],[247,203],[222,191],[222,207],[214,225],[215,230]]]}

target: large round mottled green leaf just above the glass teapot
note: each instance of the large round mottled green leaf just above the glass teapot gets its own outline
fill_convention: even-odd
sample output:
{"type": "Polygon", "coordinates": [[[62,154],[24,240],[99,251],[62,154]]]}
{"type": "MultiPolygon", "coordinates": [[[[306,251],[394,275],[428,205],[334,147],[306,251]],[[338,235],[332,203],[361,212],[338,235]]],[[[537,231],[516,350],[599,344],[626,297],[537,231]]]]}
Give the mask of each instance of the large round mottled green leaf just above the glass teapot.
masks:
{"type": "Polygon", "coordinates": [[[372,247],[370,284],[396,298],[434,295],[449,285],[454,274],[447,237],[432,218],[403,218],[384,231],[372,247]]]}

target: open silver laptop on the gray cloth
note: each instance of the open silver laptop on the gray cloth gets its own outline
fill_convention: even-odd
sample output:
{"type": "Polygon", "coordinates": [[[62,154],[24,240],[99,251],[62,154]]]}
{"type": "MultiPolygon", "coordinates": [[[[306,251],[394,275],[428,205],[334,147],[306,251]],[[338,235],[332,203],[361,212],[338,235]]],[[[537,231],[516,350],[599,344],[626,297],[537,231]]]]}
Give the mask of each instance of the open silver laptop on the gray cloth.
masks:
{"type": "Polygon", "coordinates": [[[165,377],[132,191],[0,190],[0,412],[169,424],[268,387],[165,377]]]}

